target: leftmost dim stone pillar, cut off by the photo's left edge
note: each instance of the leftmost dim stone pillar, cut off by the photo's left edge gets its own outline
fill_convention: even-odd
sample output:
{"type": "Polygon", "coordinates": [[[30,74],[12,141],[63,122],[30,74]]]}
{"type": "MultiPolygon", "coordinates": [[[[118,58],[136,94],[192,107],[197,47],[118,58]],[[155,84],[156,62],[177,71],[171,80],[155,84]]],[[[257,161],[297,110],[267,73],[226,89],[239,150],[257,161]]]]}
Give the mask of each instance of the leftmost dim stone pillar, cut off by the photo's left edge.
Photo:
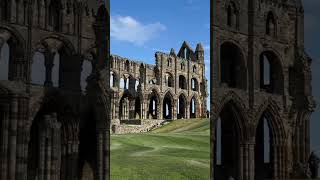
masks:
{"type": "Polygon", "coordinates": [[[9,105],[1,105],[1,131],[0,131],[0,179],[7,179],[8,171],[8,143],[9,143],[9,105]]]}

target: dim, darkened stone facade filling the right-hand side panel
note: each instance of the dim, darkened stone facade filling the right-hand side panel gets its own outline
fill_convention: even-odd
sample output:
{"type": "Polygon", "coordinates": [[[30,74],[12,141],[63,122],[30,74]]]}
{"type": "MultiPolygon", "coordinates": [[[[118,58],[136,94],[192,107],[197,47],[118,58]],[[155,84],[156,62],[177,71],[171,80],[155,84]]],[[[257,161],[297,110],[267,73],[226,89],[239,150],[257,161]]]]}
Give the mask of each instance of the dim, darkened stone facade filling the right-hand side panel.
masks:
{"type": "Polygon", "coordinates": [[[307,176],[310,66],[300,0],[211,0],[212,179],[307,176]]]}

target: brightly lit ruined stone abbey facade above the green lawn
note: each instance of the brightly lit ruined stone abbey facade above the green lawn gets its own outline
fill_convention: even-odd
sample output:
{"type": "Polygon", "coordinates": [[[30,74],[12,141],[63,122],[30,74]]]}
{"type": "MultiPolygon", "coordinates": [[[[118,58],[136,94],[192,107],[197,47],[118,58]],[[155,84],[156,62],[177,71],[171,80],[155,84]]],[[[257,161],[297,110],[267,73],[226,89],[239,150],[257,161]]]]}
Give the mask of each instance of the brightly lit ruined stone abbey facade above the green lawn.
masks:
{"type": "Polygon", "coordinates": [[[155,65],[111,56],[112,119],[206,117],[204,49],[184,42],[178,54],[157,52],[155,65]]]}

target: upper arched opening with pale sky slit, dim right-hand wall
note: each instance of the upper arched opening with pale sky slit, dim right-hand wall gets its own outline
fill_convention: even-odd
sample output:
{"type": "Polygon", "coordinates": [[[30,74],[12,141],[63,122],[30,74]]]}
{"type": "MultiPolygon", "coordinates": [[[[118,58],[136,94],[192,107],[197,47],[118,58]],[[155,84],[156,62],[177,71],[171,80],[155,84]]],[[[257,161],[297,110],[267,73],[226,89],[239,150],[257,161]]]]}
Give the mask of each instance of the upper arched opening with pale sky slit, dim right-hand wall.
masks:
{"type": "Polygon", "coordinates": [[[272,52],[263,52],[260,55],[260,89],[275,94],[283,92],[282,67],[272,52]]]}

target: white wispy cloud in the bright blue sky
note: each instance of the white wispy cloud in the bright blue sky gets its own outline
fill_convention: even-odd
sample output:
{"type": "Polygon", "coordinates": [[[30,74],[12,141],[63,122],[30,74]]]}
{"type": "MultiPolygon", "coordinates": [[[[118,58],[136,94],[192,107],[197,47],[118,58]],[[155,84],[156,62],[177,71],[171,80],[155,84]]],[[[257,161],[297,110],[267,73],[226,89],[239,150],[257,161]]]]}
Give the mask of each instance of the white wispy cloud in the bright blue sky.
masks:
{"type": "Polygon", "coordinates": [[[160,22],[143,24],[131,16],[111,16],[110,22],[112,38],[136,45],[143,45],[166,30],[160,22]]]}

